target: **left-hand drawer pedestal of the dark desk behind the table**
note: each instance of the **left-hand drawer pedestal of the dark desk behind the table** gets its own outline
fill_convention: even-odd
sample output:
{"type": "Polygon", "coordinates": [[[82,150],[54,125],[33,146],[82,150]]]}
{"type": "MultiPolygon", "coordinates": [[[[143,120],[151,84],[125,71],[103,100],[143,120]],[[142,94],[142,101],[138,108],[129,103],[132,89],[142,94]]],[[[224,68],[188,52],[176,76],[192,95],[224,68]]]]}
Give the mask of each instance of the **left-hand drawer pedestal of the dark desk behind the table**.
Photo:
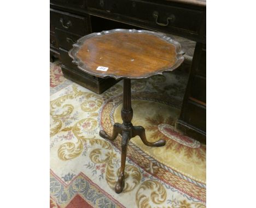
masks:
{"type": "MultiPolygon", "coordinates": [[[[63,3],[64,5],[67,2],[71,3],[71,5],[73,5],[72,2],[75,3],[75,1],[55,2],[63,3]]],[[[83,35],[91,33],[90,17],[88,15],[81,16],[50,9],[50,26],[50,58],[51,60],[55,57],[60,58],[64,77],[98,94],[117,83],[113,78],[102,79],[78,70],[68,56],[68,51],[72,48],[72,44],[83,35]]]]}

